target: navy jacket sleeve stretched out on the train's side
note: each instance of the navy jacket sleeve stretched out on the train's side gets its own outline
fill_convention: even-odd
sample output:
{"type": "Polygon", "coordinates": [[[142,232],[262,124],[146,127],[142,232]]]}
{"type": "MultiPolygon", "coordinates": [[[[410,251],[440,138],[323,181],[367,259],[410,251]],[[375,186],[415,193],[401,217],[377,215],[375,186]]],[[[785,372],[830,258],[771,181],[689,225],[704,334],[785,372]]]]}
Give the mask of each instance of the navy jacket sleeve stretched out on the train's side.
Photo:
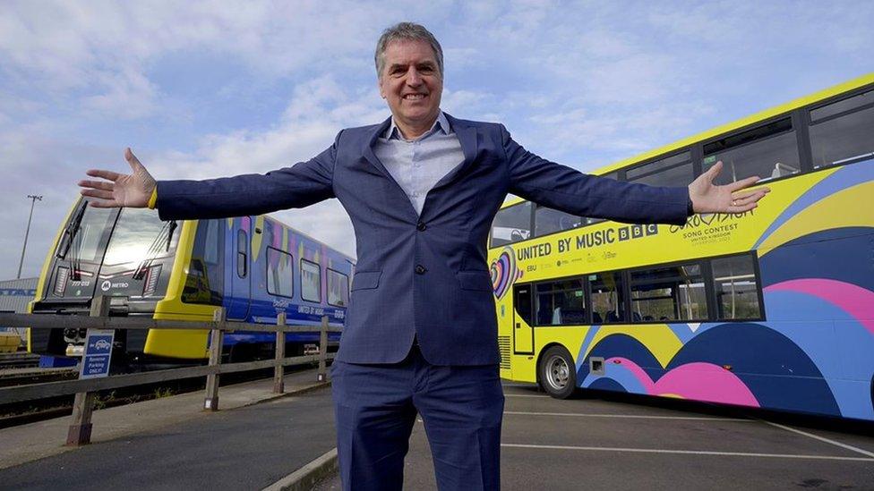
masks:
{"type": "Polygon", "coordinates": [[[316,157],[267,174],[159,181],[158,214],[161,220],[262,215],[334,198],[333,173],[340,134],[316,157]]]}

